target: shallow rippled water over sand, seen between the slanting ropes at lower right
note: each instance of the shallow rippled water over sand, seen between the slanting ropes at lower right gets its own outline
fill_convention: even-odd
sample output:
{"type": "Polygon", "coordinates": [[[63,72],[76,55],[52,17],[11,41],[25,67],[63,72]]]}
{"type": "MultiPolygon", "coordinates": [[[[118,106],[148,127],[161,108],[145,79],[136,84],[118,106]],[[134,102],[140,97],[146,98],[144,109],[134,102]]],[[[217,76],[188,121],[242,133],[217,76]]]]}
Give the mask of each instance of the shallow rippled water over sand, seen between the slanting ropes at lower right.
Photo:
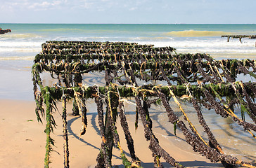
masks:
{"type": "MultiPolygon", "coordinates": [[[[182,113],[179,111],[177,104],[175,104],[172,99],[169,104],[176,115],[179,116],[179,120],[183,120],[182,113]]],[[[126,104],[125,106],[127,108],[126,112],[128,115],[128,120],[135,122],[135,106],[131,104],[126,104]]],[[[189,120],[191,120],[191,123],[195,125],[203,139],[207,141],[207,134],[203,132],[203,128],[200,126],[200,123],[198,123],[196,111],[194,111],[191,104],[184,103],[182,106],[188,115],[189,120]]],[[[236,109],[236,115],[239,116],[239,113],[239,109],[236,109]]],[[[253,139],[248,132],[245,132],[237,123],[234,123],[231,118],[222,118],[221,116],[217,115],[214,110],[208,111],[207,109],[203,109],[203,116],[205,118],[205,122],[210,127],[210,130],[215,135],[219,145],[222,146],[224,153],[227,155],[232,155],[239,160],[255,163],[255,139],[253,139]]],[[[181,130],[177,130],[177,137],[175,137],[174,126],[172,123],[168,122],[167,113],[165,113],[165,109],[162,106],[152,107],[151,119],[153,120],[153,126],[156,127],[154,130],[158,132],[158,134],[156,134],[157,137],[165,137],[166,139],[169,139],[169,141],[172,141],[172,143],[179,146],[181,150],[188,150],[192,153],[191,146],[185,144],[184,136],[181,130]],[[181,141],[183,141],[182,144],[181,141]]],[[[248,119],[249,117],[247,116],[246,120],[248,119]]],[[[186,121],[184,121],[184,123],[186,123],[186,121]]],[[[143,125],[139,125],[139,127],[143,127],[143,125]]]]}

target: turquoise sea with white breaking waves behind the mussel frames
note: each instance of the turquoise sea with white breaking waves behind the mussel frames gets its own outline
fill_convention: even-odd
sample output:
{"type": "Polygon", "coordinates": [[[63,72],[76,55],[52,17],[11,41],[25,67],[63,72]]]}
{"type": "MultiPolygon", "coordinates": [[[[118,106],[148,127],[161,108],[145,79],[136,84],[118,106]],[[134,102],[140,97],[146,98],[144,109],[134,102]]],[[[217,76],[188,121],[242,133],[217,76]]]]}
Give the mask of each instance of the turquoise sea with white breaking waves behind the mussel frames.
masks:
{"type": "Polygon", "coordinates": [[[256,34],[256,25],[148,25],[148,24],[0,24],[12,32],[0,35],[0,59],[32,59],[41,43],[57,41],[127,41],[172,46],[177,52],[256,54],[255,40],[231,39],[226,34],[256,34]]]}

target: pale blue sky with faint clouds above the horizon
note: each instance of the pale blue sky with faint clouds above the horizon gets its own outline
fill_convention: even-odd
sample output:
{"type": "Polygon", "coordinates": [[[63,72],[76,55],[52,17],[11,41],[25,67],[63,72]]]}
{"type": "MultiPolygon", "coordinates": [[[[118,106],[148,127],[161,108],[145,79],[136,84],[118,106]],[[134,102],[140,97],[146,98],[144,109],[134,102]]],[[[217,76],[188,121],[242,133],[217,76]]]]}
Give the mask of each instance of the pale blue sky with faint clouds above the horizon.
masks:
{"type": "Polygon", "coordinates": [[[0,0],[1,23],[256,23],[255,0],[0,0]]]}

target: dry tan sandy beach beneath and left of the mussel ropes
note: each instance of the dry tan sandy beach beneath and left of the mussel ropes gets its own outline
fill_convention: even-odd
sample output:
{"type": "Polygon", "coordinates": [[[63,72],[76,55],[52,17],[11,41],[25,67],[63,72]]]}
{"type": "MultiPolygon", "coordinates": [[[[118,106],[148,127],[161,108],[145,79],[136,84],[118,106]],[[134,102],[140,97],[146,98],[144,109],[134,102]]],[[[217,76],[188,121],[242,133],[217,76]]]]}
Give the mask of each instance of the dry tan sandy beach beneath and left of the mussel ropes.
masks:
{"type": "MultiPolygon", "coordinates": [[[[44,167],[46,135],[44,134],[44,124],[38,123],[34,114],[34,102],[0,99],[0,106],[0,144],[2,144],[0,148],[0,167],[44,167]]],[[[68,106],[69,110],[71,110],[70,108],[71,106],[68,106]]],[[[58,112],[55,113],[55,118],[58,127],[52,137],[56,144],[53,150],[56,152],[51,153],[51,167],[63,167],[62,121],[58,112]]],[[[79,138],[80,118],[68,116],[70,167],[94,167],[96,165],[96,156],[101,146],[101,136],[98,130],[98,118],[93,106],[89,108],[88,120],[87,133],[79,138]]],[[[141,123],[136,131],[133,123],[129,123],[129,127],[134,137],[136,155],[140,158],[142,166],[153,167],[153,158],[151,157],[151,151],[148,149],[148,142],[143,137],[141,123]]],[[[120,123],[117,123],[117,129],[120,129],[120,123]]],[[[120,130],[118,131],[121,146],[127,153],[124,134],[120,130]]],[[[186,167],[221,166],[218,163],[210,163],[209,160],[193,153],[185,142],[180,141],[178,147],[169,143],[167,139],[157,133],[156,136],[160,140],[160,145],[186,167]]],[[[164,160],[162,162],[165,167],[170,167],[164,160]]],[[[113,152],[114,165],[122,165],[120,151],[117,148],[114,148],[113,152]]]]}

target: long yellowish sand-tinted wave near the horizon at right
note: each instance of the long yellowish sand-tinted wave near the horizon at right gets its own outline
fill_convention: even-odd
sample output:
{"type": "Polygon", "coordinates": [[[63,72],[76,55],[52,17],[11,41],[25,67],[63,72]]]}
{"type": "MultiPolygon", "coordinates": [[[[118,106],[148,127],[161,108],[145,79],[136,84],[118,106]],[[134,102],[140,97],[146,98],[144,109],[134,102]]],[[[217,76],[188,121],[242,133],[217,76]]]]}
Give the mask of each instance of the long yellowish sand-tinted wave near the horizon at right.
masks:
{"type": "Polygon", "coordinates": [[[232,35],[233,32],[226,31],[200,31],[200,30],[184,30],[184,31],[169,31],[165,33],[166,36],[177,36],[177,37],[200,37],[200,36],[222,36],[232,35]]]}

